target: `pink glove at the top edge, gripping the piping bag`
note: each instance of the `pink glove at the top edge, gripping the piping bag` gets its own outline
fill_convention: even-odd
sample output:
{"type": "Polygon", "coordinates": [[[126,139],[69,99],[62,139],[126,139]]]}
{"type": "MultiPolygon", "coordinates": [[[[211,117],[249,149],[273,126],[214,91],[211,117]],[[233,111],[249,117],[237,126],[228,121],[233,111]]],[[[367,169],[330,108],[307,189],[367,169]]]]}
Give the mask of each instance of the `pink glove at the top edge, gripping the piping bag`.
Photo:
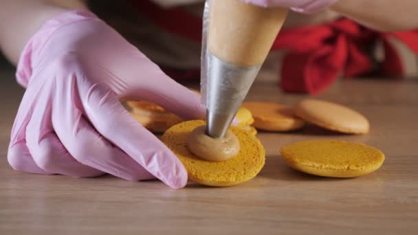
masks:
{"type": "Polygon", "coordinates": [[[265,8],[285,7],[292,8],[295,12],[314,13],[324,10],[338,0],[241,0],[265,8]]]}

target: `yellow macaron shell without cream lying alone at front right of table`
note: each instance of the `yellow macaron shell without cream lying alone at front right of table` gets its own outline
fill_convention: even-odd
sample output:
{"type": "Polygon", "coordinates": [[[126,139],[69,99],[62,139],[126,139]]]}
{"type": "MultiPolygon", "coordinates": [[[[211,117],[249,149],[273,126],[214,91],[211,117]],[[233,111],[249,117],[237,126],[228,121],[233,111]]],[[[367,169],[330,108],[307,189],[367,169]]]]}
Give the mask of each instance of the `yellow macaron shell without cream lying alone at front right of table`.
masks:
{"type": "Polygon", "coordinates": [[[324,177],[359,177],[382,166],[384,153],[360,143],[332,139],[297,142],[281,148],[286,163],[296,170],[324,177]]]}

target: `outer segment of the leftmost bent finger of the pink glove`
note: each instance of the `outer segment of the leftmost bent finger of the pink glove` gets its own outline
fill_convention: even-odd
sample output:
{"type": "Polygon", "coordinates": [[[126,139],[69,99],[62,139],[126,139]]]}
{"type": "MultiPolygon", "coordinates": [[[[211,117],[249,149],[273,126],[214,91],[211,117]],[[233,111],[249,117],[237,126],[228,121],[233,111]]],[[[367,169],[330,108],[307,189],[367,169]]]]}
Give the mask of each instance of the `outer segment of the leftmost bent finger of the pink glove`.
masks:
{"type": "Polygon", "coordinates": [[[8,162],[14,170],[42,175],[53,175],[51,172],[46,172],[39,168],[34,159],[32,159],[32,155],[30,155],[28,146],[26,146],[25,142],[10,144],[8,162]]]}

